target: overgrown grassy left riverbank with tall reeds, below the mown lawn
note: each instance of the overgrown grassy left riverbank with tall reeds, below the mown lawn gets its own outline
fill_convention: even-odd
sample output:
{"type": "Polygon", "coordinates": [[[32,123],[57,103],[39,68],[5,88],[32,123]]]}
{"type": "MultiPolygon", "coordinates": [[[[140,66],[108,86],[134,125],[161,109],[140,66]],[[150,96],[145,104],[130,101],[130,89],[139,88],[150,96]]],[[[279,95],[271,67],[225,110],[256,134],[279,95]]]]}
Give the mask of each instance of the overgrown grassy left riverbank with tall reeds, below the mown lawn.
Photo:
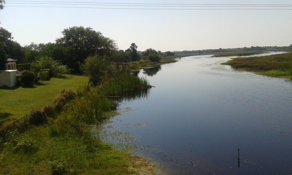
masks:
{"type": "Polygon", "coordinates": [[[104,96],[150,88],[147,80],[128,74],[112,77],[96,88],[85,86],[58,95],[56,104],[43,109],[47,122],[4,123],[0,128],[0,174],[156,174],[154,165],[98,138],[95,128],[117,114],[116,103],[104,96]],[[64,100],[66,103],[60,103],[64,100]]]}

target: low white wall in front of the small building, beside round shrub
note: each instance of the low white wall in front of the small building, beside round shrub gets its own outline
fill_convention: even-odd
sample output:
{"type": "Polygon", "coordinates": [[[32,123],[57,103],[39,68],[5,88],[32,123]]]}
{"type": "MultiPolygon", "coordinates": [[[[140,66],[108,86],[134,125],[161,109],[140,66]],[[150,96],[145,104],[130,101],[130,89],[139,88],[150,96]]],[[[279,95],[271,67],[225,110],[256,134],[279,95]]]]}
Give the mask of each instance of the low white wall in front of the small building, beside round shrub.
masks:
{"type": "Polygon", "coordinates": [[[16,70],[15,71],[0,71],[0,87],[8,86],[13,88],[16,85],[16,70]]]}

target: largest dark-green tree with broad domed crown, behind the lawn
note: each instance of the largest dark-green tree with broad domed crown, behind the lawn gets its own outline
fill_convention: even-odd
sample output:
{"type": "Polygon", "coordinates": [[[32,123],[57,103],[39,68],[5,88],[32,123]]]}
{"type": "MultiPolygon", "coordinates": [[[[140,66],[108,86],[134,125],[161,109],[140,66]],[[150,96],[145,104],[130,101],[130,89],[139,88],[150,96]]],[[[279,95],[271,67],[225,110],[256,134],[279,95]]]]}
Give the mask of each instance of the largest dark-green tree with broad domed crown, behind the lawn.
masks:
{"type": "Polygon", "coordinates": [[[56,40],[51,56],[75,71],[79,70],[79,63],[83,63],[88,56],[97,54],[110,57],[116,50],[114,40],[90,27],[69,27],[62,34],[63,37],[56,40]]]}

